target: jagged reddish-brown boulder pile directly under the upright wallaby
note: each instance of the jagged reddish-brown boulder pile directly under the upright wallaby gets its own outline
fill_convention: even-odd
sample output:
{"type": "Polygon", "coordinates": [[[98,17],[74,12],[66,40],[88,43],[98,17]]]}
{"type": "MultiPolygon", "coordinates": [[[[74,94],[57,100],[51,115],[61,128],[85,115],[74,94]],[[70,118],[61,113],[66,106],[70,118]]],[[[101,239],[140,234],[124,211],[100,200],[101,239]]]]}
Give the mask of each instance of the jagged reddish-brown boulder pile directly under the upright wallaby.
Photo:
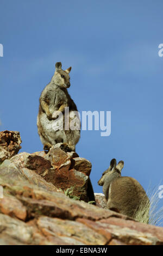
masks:
{"type": "Polygon", "coordinates": [[[62,191],[72,188],[72,197],[84,202],[95,201],[89,179],[91,163],[75,152],[65,153],[53,146],[46,155],[41,152],[28,156],[24,167],[34,170],[62,191]]]}

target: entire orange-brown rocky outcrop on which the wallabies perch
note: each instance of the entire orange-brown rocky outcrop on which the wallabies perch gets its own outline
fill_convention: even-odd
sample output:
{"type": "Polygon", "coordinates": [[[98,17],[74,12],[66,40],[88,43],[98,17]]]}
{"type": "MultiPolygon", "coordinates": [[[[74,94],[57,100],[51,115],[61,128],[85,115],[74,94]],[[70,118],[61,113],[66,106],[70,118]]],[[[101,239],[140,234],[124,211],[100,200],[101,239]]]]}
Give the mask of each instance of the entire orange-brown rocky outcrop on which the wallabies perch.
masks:
{"type": "Polygon", "coordinates": [[[100,194],[88,203],[89,161],[55,147],[17,154],[20,143],[0,132],[0,245],[163,245],[163,228],[102,209],[100,194]]]}

